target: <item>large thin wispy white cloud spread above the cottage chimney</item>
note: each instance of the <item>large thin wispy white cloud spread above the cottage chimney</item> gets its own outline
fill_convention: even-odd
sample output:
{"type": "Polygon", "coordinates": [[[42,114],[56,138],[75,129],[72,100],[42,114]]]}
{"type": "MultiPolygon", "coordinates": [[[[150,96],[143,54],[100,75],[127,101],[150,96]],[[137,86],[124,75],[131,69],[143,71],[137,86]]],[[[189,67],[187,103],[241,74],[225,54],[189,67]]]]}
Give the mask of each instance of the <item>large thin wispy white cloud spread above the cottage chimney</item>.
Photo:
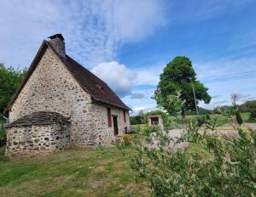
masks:
{"type": "Polygon", "coordinates": [[[67,53],[92,68],[165,24],[165,6],[156,0],[6,0],[0,7],[0,60],[14,66],[28,66],[43,39],[62,33],[67,53]]]}

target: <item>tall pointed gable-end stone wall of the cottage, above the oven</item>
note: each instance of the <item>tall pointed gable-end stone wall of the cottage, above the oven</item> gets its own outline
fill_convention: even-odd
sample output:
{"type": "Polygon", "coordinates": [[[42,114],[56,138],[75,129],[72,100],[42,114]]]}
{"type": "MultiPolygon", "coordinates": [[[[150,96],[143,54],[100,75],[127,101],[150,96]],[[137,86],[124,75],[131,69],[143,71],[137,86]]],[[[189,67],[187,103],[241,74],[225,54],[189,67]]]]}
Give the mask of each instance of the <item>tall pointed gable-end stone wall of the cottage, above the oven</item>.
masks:
{"type": "Polygon", "coordinates": [[[71,118],[72,142],[86,146],[87,134],[95,125],[91,119],[93,109],[90,95],[79,87],[65,65],[48,48],[9,111],[9,121],[35,111],[58,112],[71,118]]]}

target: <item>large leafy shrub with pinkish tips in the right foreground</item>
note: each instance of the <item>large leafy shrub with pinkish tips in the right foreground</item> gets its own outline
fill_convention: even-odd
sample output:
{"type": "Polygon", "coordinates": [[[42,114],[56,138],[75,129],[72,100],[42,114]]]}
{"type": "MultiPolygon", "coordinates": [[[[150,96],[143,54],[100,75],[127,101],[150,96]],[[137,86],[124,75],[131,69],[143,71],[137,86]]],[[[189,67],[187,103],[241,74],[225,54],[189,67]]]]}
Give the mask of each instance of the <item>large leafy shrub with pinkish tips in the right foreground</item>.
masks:
{"type": "MultiPolygon", "coordinates": [[[[180,102],[169,103],[177,110],[180,102]]],[[[201,132],[196,121],[186,125],[181,138],[170,137],[168,128],[151,131],[149,140],[137,145],[131,168],[148,181],[154,196],[254,196],[256,132],[241,129],[237,110],[228,114],[239,138],[234,133],[201,132]],[[154,149],[147,144],[153,140],[157,142],[154,149]],[[191,146],[172,149],[173,144],[184,143],[191,146]]],[[[216,127],[215,119],[207,118],[206,124],[216,127]]]]}

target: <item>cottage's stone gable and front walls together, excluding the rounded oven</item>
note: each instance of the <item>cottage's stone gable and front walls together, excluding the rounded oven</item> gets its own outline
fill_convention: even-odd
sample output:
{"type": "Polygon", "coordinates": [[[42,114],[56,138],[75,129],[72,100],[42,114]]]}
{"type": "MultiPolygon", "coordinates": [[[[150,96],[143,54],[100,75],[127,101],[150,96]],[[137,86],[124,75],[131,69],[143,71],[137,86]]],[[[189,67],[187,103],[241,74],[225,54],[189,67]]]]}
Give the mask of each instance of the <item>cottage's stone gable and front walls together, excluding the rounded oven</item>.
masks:
{"type": "MultiPolygon", "coordinates": [[[[24,115],[37,111],[54,111],[70,117],[71,143],[75,146],[95,146],[108,144],[113,137],[113,127],[108,127],[107,107],[94,104],[89,93],[79,87],[65,65],[55,53],[47,48],[32,76],[26,82],[15,103],[9,110],[9,121],[15,121],[24,115]]],[[[112,108],[118,115],[119,134],[127,122],[123,121],[123,110],[112,108]]]]}

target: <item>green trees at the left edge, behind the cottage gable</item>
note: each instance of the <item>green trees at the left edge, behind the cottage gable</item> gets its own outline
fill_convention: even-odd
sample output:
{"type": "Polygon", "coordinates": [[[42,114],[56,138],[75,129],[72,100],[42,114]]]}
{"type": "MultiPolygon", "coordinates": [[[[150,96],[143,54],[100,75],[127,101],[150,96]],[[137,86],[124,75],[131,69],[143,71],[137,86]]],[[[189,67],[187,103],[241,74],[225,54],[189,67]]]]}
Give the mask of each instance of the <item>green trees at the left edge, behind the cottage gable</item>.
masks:
{"type": "Polygon", "coordinates": [[[3,115],[3,110],[19,87],[25,74],[26,69],[15,70],[12,67],[7,68],[0,63],[0,115],[3,115]]]}

